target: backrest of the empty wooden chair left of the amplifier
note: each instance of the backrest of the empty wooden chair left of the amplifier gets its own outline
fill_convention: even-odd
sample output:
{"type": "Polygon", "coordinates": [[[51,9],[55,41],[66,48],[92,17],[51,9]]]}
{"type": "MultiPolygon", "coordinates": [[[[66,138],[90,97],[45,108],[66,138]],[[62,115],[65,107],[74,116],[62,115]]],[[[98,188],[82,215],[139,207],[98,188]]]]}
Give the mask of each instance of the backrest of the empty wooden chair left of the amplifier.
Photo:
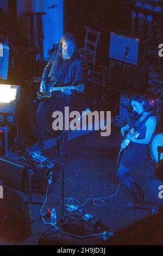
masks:
{"type": "Polygon", "coordinates": [[[97,45],[98,45],[98,40],[99,40],[99,35],[101,34],[100,32],[90,28],[90,27],[85,27],[86,28],[86,35],[85,35],[85,44],[84,47],[85,48],[89,48],[89,45],[93,48],[91,50],[93,50],[96,53],[97,50],[97,45]],[[93,37],[96,38],[95,40],[91,40],[89,39],[89,36],[94,35],[93,37]]]}

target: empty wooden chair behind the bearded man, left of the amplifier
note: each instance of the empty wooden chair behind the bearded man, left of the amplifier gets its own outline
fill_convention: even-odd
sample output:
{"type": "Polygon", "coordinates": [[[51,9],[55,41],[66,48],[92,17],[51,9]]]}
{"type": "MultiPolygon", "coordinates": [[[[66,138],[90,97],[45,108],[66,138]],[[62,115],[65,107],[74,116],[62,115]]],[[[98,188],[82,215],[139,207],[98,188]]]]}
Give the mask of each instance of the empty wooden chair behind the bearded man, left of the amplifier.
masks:
{"type": "Polygon", "coordinates": [[[90,67],[90,66],[96,65],[96,51],[98,46],[99,35],[101,33],[98,31],[95,31],[90,27],[85,27],[85,28],[86,28],[86,35],[85,35],[84,48],[78,48],[78,53],[80,54],[80,57],[83,58],[83,64],[86,67],[90,67]]]}

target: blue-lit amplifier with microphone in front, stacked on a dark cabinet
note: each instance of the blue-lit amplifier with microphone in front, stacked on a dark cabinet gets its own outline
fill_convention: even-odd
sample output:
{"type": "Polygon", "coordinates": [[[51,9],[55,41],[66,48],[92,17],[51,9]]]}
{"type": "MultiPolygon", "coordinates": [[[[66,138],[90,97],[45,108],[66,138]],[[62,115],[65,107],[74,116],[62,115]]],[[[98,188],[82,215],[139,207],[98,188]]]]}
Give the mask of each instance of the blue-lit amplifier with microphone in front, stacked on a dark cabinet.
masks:
{"type": "Polygon", "coordinates": [[[134,38],[126,32],[110,33],[109,58],[139,66],[145,62],[145,40],[134,38]]]}

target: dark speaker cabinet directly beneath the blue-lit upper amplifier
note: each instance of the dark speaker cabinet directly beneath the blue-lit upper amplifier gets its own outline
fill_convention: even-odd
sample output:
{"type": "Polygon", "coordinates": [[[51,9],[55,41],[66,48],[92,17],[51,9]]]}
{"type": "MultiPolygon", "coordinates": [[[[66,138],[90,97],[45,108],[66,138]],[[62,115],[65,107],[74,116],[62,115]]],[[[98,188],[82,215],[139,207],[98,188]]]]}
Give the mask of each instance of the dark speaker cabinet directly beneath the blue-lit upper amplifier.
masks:
{"type": "Polygon", "coordinates": [[[110,60],[110,88],[144,92],[148,87],[148,65],[131,66],[126,64],[123,71],[123,63],[110,60]],[[123,74],[123,78],[122,78],[123,74]],[[122,79],[122,83],[121,83],[122,79]]]}

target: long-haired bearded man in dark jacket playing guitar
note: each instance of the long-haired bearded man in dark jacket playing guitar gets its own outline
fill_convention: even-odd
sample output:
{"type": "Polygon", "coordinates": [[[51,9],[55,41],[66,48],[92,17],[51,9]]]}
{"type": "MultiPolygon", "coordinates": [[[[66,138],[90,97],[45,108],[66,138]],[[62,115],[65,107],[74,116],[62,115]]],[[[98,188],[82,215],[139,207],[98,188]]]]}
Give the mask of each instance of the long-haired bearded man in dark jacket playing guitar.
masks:
{"type": "MultiPolygon", "coordinates": [[[[76,39],[74,35],[66,33],[59,42],[58,51],[53,53],[43,71],[40,92],[47,91],[47,82],[55,81],[58,86],[70,84],[73,87],[82,83],[82,80],[83,61],[77,53],[76,39]]],[[[52,111],[61,111],[64,117],[65,107],[70,105],[72,94],[73,90],[63,88],[61,91],[54,92],[52,97],[47,97],[39,103],[36,113],[36,143],[30,147],[30,151],[43,149],[46,114],[49,111],[51,113],[52,111]]]]}

